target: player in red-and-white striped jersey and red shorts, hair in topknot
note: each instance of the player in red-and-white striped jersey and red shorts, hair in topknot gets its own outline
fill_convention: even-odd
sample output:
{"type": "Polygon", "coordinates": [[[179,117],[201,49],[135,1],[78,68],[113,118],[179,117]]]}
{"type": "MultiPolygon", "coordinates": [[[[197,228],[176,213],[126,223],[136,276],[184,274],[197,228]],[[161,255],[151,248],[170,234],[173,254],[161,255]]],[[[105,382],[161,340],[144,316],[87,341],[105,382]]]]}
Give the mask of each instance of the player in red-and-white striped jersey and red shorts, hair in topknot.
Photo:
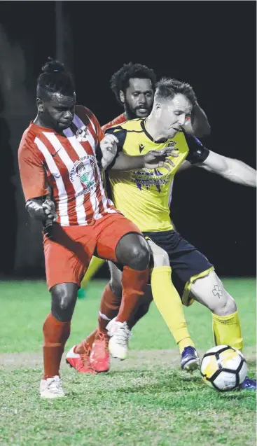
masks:
{"type": "MultiPolygon", "coordinates": [[[[43,324],[40,394],[55,398],[64,396],[60,361],[81,277],[93,253],[123,265],[124,291],[117,316],[122,326],[144,293],[149,249],[102,184],[99,165],[105,169],[113,160],[118,139],[104,137],[93,113],[76,106],[74,83],[63,64],[50,60],[42,71],[36,88],[38,114],[22,136],[18,161],[27,211],[46,223],[43,249],[52,307],[43,324]]],[[[148,167],[162,165],[169,153],[156,151],[142,162],[148,167]]]]}

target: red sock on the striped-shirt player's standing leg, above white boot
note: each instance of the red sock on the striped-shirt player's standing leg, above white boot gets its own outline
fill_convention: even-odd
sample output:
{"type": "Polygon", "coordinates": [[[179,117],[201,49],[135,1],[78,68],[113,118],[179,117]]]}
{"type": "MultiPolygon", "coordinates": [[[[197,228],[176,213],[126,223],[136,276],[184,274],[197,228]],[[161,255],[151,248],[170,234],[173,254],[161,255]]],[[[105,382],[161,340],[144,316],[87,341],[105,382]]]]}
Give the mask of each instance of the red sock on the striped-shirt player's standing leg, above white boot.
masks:
{"type": "Polygon", "coordinates": [[[64,346],[71,332],[71,321],[60,322],[49,313],[43,323],[43,379],[60,375],[64,346]]]}

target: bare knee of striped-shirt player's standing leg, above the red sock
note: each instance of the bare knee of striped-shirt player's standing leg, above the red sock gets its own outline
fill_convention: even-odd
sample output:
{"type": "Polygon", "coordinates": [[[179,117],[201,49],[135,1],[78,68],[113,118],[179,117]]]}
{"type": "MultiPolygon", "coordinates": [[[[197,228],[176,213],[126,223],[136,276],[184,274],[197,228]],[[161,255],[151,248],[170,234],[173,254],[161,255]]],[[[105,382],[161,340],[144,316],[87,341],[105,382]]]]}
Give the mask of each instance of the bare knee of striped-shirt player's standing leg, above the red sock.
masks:
{"type": "Polygon", "coordinates": [[[58,321],[70,321],[74,313],[78,287],[76,284],[59,284],[51,289],[52,314],[58,321]]]}

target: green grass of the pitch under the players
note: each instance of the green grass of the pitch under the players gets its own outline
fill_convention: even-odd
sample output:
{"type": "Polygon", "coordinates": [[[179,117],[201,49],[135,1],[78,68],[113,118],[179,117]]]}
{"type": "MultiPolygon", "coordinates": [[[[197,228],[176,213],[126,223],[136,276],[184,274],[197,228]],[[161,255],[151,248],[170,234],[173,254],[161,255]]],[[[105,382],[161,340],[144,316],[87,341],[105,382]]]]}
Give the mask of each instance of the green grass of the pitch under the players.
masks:
{"type": "MultiPolygon", "coordinates": [[[[255,372],[256,281],[226,279],[242,321],[249,375],[255,372]]],[[[95,328],[104,282],[78,300],[67,349],[95,328]]],[[[134,328],[127,361],[108,375],[78,375],[62,365],[67,398],[40,400],[41,326],[50,309],[43,281],[0,283],[0,445],[256,445],[256,398],[220,394],[179,370],[179,352],[155,306],[134,328]]],[[[197,349],[212,347],[211,314],[185,309],[197,349]]]]}

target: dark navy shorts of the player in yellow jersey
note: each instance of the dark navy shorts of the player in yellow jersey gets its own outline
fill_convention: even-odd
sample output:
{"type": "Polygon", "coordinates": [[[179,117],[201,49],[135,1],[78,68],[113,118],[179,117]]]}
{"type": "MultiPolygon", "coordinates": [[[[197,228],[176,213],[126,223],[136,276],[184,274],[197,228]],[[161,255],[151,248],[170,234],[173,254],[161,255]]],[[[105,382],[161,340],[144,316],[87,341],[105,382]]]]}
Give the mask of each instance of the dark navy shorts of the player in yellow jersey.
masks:
{"type": "Polygon", "coordinates": [[[143,232],[143,234],[167,252],[172,267],[172,282],[179,292],[183,304],[190,305],[190,288],[188,293],[184,292],[186,283],[202,272],[213,270],[214,265],[209,263],[209,260],[200,251],[197,251],[195,246],[183,239],[179,232],[170,230],[143,232]]]}

